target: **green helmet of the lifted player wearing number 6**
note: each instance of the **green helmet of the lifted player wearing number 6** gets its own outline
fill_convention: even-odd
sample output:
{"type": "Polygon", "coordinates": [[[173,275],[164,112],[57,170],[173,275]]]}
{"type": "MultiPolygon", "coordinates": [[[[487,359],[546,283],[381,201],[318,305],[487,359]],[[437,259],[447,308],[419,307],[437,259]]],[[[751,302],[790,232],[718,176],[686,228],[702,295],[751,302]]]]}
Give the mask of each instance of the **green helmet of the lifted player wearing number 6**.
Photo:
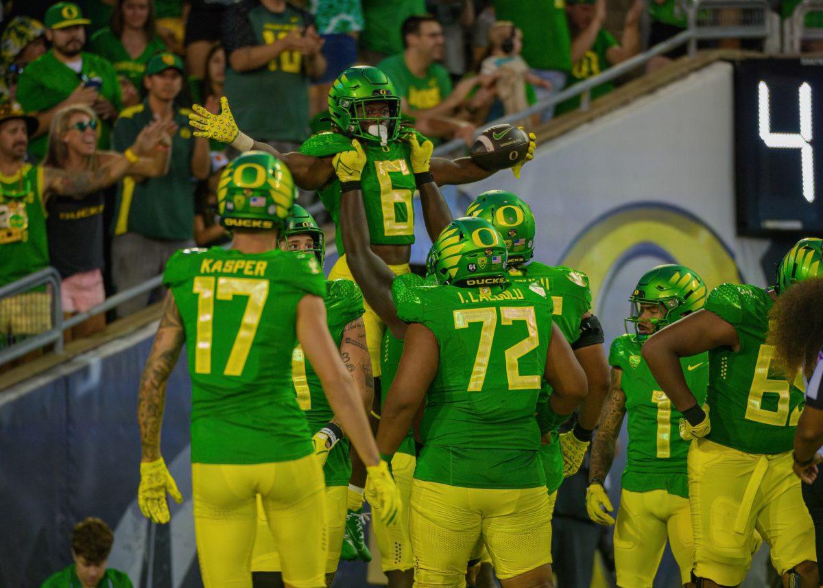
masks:
{"type": "Polygon", "coordinates": [[[400,97],[392,81],[378,68],[358,65],[342,72],[328,91],[328,113],[347,137],[385,145],[400,136],[400,97]],[[366,116],[365,105],[369,102],[385,102],[388,116],[366,116]],[[383,122],[388,123],[385,137],[379,135],[379,128],[369,132],[370,126],[383,122]]]}

